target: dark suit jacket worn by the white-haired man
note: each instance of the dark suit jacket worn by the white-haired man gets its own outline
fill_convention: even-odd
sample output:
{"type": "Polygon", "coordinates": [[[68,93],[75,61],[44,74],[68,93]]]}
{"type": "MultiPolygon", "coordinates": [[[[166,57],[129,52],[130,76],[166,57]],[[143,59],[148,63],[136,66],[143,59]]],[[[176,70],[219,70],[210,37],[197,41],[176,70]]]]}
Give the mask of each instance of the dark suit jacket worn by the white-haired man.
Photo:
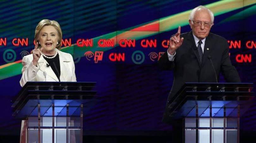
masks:
{"type": "Polygon", "coordinates": [[[222,72],[226,82],[241,82],[229,58],[229,46],[225,38],[209,33],[205,40],[202,65],[199,63],[199,54],[192,31],[181,34],[184,37],[182,45],[176,50],[173,62],[168,60],[165,52],[158,61],[160,69],[174,70],[173,87],[168,96],[163,122],[169,123],[168,106],[175,93],[185,82],[216,82],[215,73],[208,56],[211,57],[216,70],[217,79],[222,72]],[[209,50],[207,50],[209,48],[209,50]]]}

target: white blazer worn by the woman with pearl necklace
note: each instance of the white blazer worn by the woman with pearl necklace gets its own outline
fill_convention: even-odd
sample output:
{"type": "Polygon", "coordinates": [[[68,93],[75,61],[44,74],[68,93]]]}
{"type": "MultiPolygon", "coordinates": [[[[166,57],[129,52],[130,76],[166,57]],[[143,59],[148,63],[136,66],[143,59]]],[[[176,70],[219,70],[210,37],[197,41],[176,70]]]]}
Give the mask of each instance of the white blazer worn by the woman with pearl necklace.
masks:
{"type": "MultiPolygon", "coordinates": [[[[76,81],[75,64],[69,53],[58,50],[60,63],[60,81],[76,81]]],[[[38,60],[37,66],[32,63],[33,54],[22,59],[23,68],[20,85],[23,87],[27,81],[59,81],[51,67],[46,67],[47,61],[43,55],[38,60]]]]}

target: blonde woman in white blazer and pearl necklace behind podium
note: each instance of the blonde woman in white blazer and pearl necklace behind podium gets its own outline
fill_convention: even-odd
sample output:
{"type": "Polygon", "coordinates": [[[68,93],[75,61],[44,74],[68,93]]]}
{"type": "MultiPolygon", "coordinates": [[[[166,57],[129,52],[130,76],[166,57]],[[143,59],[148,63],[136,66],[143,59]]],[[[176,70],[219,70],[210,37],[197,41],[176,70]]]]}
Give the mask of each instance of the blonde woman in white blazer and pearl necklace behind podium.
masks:
{"type": "Polygon", "coordinates": [[[61,40],[57,21],[44,19],[39,22],[35,30],[35,48],[22,59],[22,87],[27,81],[76,81],[72,56],[58,50],[61,40]]]}

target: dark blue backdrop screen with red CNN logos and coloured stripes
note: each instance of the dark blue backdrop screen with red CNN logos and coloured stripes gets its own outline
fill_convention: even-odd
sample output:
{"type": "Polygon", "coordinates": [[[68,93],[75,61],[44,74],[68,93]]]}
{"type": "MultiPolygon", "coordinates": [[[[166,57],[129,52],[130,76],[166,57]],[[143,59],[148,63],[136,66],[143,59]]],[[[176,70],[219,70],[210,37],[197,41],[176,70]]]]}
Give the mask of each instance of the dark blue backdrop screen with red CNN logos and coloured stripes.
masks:
{"type": "MultiPolygon", "coordinates": [[[[252,0],[5,1],[0,5],[0,134],[18,133],[11,100],[21,90],[21,60],[34,49],[42,19],[61,26],[63,52],[75,62],[77,81],[95,81],[98,100],[84,113],[84,132],[166,131],[162,115],[173,72],[157,61],[178,26],[191,30],[191,10],[214,13],[212,33],[228,40],[232,64],[244,83],[256,81],[256,2],[252,0]],[[16,131],[16,132],[15,132],[16,131]]],[[[220,82],[225,82],[220,77],[220,82]]],[[[254,85],[255,88],[255,85],[254,85]]],[[[256,105],[241,118],[255,130],[256,105]],[[253,120],[254,119],[254,120],[253,120]]]]}

